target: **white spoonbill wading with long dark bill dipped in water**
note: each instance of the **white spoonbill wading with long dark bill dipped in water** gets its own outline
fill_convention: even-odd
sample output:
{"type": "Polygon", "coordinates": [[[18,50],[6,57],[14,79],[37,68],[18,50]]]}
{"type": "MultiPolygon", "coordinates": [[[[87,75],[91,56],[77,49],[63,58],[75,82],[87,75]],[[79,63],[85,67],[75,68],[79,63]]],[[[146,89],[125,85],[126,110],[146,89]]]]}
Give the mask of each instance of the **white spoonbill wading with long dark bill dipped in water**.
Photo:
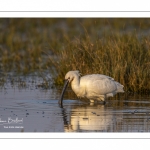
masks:
{"type": "Polygon", "coordinates": [[[87,98],[90,102],[103,101],[107,97],[113,97],[117,93],[123,93],[123,85],[113,78],[102,74],[90,74],[80,77],[78,70],[69,71],[65,75],[65,84],[61,93],[59,104],[62,105],[64,92],[68,83],[72,90],[80,98],[87,98]]]}

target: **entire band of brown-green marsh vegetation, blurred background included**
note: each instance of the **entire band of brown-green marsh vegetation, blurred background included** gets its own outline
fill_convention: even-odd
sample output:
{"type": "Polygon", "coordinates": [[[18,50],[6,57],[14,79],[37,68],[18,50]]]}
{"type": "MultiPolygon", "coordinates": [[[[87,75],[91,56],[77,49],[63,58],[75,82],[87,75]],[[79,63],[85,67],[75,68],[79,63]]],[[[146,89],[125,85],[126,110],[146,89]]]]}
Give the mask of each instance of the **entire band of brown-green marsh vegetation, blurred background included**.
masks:
{"type": "Polygon", "coordinates": [[[150,91],[149,19],[0,19],[0,72],[105,74],[150,91]]]}

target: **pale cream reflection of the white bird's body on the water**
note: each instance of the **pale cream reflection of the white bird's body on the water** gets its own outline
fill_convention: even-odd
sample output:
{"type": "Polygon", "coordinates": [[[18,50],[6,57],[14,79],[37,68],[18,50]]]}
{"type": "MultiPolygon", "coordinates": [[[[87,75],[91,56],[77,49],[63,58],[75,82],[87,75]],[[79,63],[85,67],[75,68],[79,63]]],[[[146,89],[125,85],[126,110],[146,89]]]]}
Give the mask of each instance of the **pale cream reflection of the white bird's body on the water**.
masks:
{"type": "MultiPolygon", "coordinates": [[[[107,131],[112,121],[112,114],[105,110],[104,105],[77,106],[73,108],[70,123],[64,126],[64,131],[107,131]]],[[[66,122],[66,117],[64,122],[66,122]]]]}

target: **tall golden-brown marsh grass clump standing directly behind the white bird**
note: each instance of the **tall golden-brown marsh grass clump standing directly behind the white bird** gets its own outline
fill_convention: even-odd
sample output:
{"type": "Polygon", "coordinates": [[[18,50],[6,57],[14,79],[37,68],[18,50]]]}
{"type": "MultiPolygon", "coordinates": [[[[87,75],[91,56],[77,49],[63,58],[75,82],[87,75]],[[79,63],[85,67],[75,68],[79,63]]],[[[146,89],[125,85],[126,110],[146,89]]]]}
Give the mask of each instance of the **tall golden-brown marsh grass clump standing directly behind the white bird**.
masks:
{"type": "Polygon", "coordinates": [[[150,87],[150,40],[133,34],[109,34],[95,41],[87,35],[68,41],[67,46],[50,58],[63,84],[69,70],[86,74],[105,74],[125,86],[126,91],[148,92],[150,87]]]}

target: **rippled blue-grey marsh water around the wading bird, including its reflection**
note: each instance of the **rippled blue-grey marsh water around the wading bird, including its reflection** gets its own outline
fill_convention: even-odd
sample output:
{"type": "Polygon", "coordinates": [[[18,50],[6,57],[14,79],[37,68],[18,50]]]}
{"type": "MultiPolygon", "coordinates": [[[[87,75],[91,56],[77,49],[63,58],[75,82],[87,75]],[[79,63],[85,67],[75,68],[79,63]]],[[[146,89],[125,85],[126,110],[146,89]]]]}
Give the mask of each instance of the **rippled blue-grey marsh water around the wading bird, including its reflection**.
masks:
{"type": "Polygon", "coordinates": [[[150,131],[150,96],[120,94],[101,105],[66,94],[60,108],[61,89],[40,87],[40,78],[27,81],[25,86],[8,81],[1,87],[0,132],[150,131]]]}

